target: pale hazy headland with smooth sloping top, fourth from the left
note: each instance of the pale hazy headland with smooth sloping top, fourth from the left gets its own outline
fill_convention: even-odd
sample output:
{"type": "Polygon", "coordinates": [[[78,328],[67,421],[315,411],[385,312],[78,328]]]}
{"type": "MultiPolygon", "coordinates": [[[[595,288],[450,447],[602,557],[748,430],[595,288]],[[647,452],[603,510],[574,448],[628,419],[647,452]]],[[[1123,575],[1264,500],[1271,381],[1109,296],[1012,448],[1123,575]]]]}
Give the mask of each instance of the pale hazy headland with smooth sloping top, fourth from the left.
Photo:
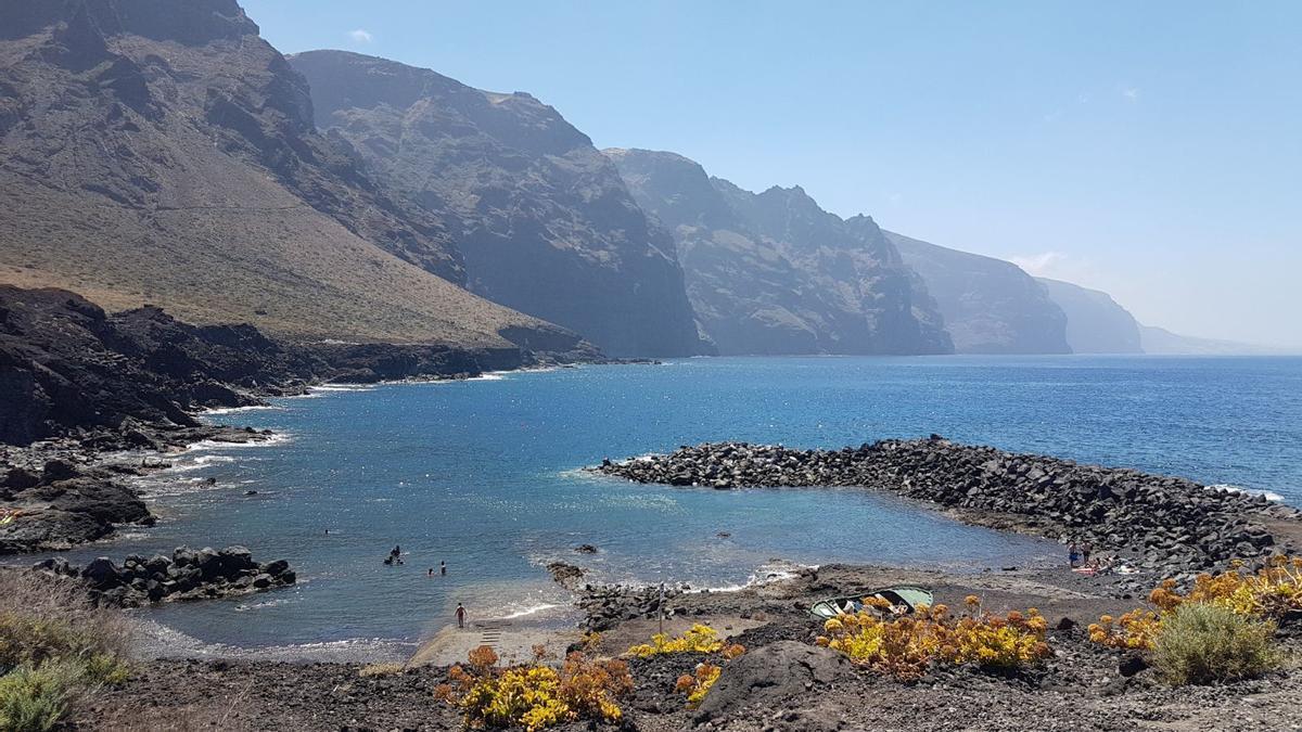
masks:
{"type": "Polygon", "coordinates": [[[885,236],[927,284],[958,353],[1072,353],[1062,309],[1016,264],[885,236]]]}

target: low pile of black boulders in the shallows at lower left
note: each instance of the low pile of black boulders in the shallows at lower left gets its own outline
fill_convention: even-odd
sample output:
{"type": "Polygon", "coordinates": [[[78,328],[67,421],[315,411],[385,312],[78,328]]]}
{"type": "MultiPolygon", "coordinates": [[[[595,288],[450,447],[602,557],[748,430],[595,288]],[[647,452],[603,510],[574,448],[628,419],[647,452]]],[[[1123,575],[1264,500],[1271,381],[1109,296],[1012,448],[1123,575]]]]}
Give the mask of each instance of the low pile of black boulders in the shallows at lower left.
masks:
{"type": "Polygon", "coordinates": [[[91,598],[102,606],[141,607],[165,600],[216,599],[260,593],[293,585],[294,570],[284,559],[258,564],[247,548],[229,546],[177,547],[172,556],[129,555],[118,565],[107,556],[74,567],[62,557],[47,559],[33,567],[86,584],[91,598]]]}

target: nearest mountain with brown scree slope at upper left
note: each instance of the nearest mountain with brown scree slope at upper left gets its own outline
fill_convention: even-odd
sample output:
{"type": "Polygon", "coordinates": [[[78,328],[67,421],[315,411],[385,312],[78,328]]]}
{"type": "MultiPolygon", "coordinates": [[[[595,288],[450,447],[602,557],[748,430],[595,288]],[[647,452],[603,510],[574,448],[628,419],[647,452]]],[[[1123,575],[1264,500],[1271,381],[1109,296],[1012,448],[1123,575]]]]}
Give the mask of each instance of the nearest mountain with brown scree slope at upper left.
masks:
{"type": "Polygon", "coordinates": [[[233,0],[0,4],[0,281],[294,337],[575,340],[464,280],[233,0]]]}

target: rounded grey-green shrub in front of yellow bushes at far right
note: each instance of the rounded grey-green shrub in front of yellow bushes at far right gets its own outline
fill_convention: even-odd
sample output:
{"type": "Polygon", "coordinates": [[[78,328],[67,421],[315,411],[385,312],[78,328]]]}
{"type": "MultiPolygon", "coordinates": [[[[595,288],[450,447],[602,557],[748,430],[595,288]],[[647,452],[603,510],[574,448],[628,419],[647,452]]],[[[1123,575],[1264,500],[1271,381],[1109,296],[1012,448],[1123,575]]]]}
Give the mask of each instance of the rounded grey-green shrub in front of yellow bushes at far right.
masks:
{"type": "Polygon", "coordinates": [[[1207,603],[1186,603],[1161,617],[1152,662],[1170,684],[1250,679],[1279,663],[1272,623],[1207,603]]]}

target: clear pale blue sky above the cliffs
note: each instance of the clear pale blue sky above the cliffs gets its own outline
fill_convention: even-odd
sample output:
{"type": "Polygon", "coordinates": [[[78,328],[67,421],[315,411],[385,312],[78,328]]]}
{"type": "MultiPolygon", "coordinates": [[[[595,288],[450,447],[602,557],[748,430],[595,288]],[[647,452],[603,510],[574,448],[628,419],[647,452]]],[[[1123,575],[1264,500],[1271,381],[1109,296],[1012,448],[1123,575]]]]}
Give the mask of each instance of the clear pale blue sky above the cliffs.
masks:
{"type": "Polygon", "coordinates": [[[1302,3],[245,0],[284,52],[529,91],[599,147],[1302,346],[1302,3]]]}

